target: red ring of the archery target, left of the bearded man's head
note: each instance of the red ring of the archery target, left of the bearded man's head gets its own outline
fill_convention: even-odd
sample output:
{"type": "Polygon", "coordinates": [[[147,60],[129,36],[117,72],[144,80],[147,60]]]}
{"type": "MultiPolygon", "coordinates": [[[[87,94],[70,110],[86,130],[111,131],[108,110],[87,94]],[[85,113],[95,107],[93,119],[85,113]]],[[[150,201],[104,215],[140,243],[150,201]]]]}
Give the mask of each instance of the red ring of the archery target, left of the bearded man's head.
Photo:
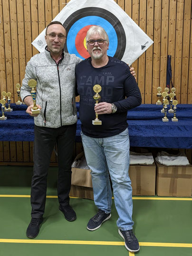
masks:
{"type": "Polygon", "coordinates": [[[86,32],[88,31],[88,29],[91,27],[92,25],[88,25],[85,26],[84,28],[82,28],[80,31],[78,31],[77,36],[76,36],[76,40],[75,40],[75,46],[76,49],[78,51],[78,53],[83,57],[83,58],[88,58],[90,57],[88,51],[86,51],[86,47],[84,44],[84,40],[86,37],[86,32]]]}

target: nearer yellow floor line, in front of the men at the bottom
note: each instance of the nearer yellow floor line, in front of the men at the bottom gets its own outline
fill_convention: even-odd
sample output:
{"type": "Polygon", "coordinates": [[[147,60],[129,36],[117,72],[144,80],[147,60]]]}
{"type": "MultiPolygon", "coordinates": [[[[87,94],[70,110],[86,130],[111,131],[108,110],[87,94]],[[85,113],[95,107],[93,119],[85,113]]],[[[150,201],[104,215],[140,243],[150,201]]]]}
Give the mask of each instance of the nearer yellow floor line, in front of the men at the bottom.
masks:
{"type": "MultiPolygon", "coordinates": [[[[80,241],[80,240],[38,240],[38,239],[0,239],[0,243],[24,243],[24,244],[66,244],[66,245],[102,245],[102,246],[124,246],[124,242],[111,241],[80,241]]],[[[140,246],[160,247],[185,247],[192,248],[192,244],[183,243],[148,243],[139,242],[140,246]]],[[[133,255],[133,254],[131,254],[133,255]]]]}

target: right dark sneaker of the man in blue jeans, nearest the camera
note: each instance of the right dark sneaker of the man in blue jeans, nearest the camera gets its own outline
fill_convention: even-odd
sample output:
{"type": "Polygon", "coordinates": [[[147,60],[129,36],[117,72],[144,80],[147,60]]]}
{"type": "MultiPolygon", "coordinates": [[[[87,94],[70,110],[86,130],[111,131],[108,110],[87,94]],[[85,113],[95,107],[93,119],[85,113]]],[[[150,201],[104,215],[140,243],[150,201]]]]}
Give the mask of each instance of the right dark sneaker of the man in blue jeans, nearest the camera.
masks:
{"type": "Polygon", "coordinates": [[[130,252],[138,252],[140,247],[139,247],[139,242],[136,238],[136,236],[133,233],[133,230],[126,230],[123,231],[121,229],[118,230],[119,235],[123,237],[125,240],[125,247],[128,251],[130,252]]]}

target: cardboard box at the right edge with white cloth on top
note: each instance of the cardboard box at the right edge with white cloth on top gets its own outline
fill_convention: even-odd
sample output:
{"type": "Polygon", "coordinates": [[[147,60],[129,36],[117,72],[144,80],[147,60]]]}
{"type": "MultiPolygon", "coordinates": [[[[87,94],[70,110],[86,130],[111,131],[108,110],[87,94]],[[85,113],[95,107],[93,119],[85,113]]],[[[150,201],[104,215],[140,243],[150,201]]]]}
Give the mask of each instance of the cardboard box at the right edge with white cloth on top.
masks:
{"type": "Polygon", "coordinates": [[[192,196],[192,165],[157,165],[156,193],[160,196],[192,196]]]}

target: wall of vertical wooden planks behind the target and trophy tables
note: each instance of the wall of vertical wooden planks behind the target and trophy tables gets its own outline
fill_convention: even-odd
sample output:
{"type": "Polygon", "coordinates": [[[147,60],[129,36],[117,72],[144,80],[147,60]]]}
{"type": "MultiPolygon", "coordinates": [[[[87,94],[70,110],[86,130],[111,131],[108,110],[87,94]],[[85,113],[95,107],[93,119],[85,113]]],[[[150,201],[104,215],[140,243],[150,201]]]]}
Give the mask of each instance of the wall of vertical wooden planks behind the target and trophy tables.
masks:
{"type": "MultiPolygon", "coordinates": [[[[38,53],[31,42],[67,2],[69,0],[0,0],[0,93],[11,92],[11,102],[17,101],[15,85],[22,83],[27,62],[38,53]]],[[[172,80],[177,100],[182,104],[192,104],[192,0],[115,2],[154,41],[132,64],[142,103],[154,104],[156,88],[165,87],[169,54],[172,56],[172,80]]],[[[81,143],[76,143],[74,154],[81,150],[81,143]]],[[[183,151],[192,162],[192,150],[183,151]]],[[[0,164],[32,162],[33,142],[0,142],[0,164]]],[[[57,162],[54,153],[51,162],[57,162]]]]}

